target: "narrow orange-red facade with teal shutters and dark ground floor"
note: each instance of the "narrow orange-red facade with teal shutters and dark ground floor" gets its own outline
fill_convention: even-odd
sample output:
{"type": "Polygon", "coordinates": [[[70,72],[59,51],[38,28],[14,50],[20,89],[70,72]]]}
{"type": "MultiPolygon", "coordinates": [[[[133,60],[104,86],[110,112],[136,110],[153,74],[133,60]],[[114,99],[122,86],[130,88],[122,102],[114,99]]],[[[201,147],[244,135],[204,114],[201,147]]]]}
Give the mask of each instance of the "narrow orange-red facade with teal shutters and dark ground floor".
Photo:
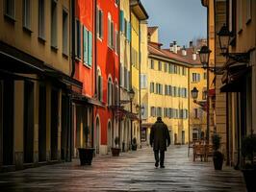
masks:
{"type": "Polygon", "coordinates": [[[95,102],[95,0],[75,0],[74,78],[83,83],[81,90],[73,90],[73,155],[78,148],[93,146],[93,106],[95,102]]]}

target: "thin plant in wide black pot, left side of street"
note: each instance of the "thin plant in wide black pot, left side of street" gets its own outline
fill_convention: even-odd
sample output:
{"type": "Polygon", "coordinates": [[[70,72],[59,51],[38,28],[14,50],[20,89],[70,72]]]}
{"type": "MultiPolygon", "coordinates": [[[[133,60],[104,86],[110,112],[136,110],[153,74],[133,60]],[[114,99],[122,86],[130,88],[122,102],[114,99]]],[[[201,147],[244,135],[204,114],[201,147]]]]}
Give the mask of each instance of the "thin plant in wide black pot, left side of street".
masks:
{"type": "Polygon", "coordinates": [[[94,148],[90,147],[89,134],[90,134],[90,128],[89,126],[86,126],[85,127],[85,135],[86,135],[85,148],[78,148],[81,165],[91,165],[93,153],[95,150],[94,148]]]}

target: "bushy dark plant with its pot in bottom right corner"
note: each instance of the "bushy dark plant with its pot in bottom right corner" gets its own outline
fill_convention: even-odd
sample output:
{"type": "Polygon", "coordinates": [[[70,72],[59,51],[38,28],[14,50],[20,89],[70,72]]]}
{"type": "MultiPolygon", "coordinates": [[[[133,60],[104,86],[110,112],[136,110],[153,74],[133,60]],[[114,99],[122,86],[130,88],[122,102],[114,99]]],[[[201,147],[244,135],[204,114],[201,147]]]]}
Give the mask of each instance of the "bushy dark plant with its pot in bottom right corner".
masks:
{"type": "Polygon", "coordinates": [[[244,157],[243,178],[247,191],[256,191],[256,134],[245,136],[242,140],[242,156],[244,157]]]}

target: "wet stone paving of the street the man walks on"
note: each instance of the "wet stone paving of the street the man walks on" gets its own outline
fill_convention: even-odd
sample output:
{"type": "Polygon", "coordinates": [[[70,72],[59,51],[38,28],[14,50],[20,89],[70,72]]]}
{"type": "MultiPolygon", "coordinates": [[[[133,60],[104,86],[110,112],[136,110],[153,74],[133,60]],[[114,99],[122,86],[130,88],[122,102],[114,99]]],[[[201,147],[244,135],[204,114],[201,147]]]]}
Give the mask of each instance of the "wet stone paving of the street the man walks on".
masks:
{"type": "Polygon", "coordinates": [[[226,166],[215,171],[213,162],[193,162],[187,153],[187,146],[169,147],[165,169],[154,167],[151,148],[142,148],[116,157],[96,156],[91,166],[74,159],[0,173],[0,191],[246,191],[241,171],[226,166]]]}

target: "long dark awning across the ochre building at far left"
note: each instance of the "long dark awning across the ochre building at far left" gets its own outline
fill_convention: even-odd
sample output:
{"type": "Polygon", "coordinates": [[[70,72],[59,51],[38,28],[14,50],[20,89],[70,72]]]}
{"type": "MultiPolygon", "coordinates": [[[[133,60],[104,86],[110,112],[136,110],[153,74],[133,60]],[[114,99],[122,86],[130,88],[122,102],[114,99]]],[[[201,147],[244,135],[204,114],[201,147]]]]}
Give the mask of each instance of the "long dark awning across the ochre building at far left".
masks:
{"type": "Polygon", "coordinates": [[[83,87],[81,82],[69,77],[64,72],[3,42],[0,42],[0,60],[1,78],[32,79],[36,81],[50,78],[61,84],[77,86],[79,89],[83,87]],[[38,75],[38,79],[28,77],[28,75],[33,74],[38,75]]]}

